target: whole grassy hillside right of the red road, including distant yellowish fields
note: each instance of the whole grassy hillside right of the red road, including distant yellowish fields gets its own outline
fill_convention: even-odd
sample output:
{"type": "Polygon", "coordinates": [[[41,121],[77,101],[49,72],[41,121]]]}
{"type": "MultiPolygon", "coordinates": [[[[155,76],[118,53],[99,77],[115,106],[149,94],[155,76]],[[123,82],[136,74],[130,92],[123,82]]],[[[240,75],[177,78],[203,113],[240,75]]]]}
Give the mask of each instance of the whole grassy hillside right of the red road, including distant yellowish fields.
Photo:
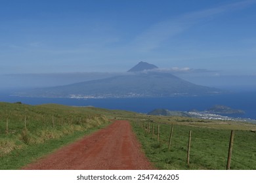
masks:
{"type": "Polygon", "coordinates": [[[146,156],[158,169],[226,169],[231,130],[234,130],[235,135],[230,169],[256,169],[255,124],[179,116],[150,116],[120,111],[117,111],[116,116],[131,121],[133,131],[146,156]],[[148,123],[150,133],[147,133],[148,123]],[[173,135],[169,150],[172,125],[173,135]],[[189,131],[192,131],[192,139],[188,166],[186,158],[189,131]]]}

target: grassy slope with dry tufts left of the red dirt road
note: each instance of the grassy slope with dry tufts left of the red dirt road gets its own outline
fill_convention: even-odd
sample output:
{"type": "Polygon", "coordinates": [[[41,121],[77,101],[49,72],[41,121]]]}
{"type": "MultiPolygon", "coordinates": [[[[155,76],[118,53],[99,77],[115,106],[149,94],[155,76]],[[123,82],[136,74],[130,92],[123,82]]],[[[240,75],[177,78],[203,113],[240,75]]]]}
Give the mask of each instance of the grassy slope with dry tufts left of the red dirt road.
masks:
{"type": "Polygon", "coordinates": [[[106,110],[0,103],[0,169],[20,169],[110,122],[106,110]]]}

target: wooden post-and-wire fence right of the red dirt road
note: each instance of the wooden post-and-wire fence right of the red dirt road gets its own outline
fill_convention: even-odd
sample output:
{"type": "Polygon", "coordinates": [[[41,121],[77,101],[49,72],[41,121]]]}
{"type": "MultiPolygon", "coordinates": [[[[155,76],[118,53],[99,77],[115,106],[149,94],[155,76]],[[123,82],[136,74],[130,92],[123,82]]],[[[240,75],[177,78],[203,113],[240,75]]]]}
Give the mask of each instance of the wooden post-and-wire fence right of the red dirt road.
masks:
{"type": "MultiPolygon", "coordinates": [[[[215,133],[203,127],[191,127],[180,124],[167,124],[153,120],[135,120],[137,127],[144,129],[144,135],[159,145],[166,146],[169,154],[179,152],[177,159],[190,163],[200,163],[206,169],[256,169],[256,142],[238,141],[236,132],[225,130],[225,133],[215,133]],[[218,137],[218,135],[224,137],[218,137]],[[209,161],[209,159],[212,159],[209,161]],[[214,161],[214,163],[213,163],[214,161]]],[[[250,131],[246,131],[251,135],[250,131]]],[[[255,135],[256,140],[256,135],[255,135]]]]}

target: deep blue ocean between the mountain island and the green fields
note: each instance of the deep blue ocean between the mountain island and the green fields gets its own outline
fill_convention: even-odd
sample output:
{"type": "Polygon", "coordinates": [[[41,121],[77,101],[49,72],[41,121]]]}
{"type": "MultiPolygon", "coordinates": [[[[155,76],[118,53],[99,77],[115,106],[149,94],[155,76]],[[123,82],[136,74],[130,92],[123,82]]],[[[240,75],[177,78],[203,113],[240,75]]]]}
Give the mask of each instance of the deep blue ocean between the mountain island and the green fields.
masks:
{"type": "MultiPolygon", "coordinates": [[[[234,118],[251,118],[256,120],[256,92],[228,93],[223,95],[197,97],[161,97],[161,98],[127,98],[127,99],[63,99],[16,97],[6,93],[0,94],[0,101],[14,103],[21,101],[29,105],[58,103],[70,106],[94,106],[99,108],[130,110],[147,113],[156,108],[168,110],[207,110],[213,105],[226,105],[241,109],[245,114],[229,115],[234,118]]],[[[228,116],[228,115],[225,115],[228,116]]]]}

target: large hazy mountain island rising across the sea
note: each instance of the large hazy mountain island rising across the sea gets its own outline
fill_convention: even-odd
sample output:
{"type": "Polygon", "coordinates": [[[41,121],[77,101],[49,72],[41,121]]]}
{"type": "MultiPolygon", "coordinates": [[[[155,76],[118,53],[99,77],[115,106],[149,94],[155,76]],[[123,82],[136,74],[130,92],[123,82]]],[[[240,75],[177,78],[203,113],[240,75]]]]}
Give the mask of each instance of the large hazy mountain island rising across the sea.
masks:
{"type": "MultiPolygon", "coordinates": [[[[143,63],[143,65],[145,64],[143,63]]],[[[146,65],[148,66],[148,64],[146,65]]],[[[145,68],[140,67],[142,72],[130,72],[127,75],[79,82],[66,86],[35,89],[18,93],[18,95],[26,97],[125,98],[221,93],[221,90],[192,84],[170,73],[161,73],[154,71],[154,69],[150,70],[148,67],[145,68]],[[147,72],[143,72],[144,70],[147,70],[147,72]]]]}

